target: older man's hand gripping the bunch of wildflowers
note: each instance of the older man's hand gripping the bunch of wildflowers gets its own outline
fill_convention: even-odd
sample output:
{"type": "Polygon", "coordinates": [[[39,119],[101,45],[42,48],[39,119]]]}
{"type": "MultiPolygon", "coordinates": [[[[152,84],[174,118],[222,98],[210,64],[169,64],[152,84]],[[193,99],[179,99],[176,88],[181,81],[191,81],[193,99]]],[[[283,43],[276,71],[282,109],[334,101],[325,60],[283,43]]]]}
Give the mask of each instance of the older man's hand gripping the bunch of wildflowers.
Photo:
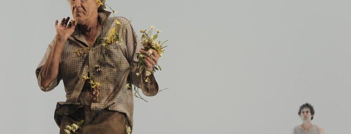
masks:
{"type": "Polygon", "coordinates": [[[147,65],[145,70],[153,70],[153,67],[157,65],[157,61],[160,58],[157,51],[155,49],[149,49],[148,51],[141,49],[140,52],[145,55],[145,63],[147,65]]]}

